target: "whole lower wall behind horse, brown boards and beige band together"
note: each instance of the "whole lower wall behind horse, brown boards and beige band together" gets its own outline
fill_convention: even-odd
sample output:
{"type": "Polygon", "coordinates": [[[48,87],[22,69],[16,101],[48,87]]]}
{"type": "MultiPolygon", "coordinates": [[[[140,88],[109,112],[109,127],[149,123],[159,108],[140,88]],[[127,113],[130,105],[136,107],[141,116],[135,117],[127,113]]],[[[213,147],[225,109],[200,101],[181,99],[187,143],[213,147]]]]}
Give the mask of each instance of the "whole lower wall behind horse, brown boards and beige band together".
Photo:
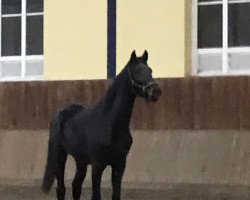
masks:
{"type": "MultiPolygon", "coordinates": [[[[157,82],[163,91],[157,103],[142,99],[135,103],[131,124],[134,144],[125,186],[249,186],[250,77],[157,82]]],[[[0,84],[0,184],[40,184],[53,114],[69,102],[95,104],[108,85],[108,81],[0,84]]],[[[68,183],[73,173],[71,160],[68,183]]],[[[110,186],[109,174],[107,169],[106,186],[110,186]]]]}

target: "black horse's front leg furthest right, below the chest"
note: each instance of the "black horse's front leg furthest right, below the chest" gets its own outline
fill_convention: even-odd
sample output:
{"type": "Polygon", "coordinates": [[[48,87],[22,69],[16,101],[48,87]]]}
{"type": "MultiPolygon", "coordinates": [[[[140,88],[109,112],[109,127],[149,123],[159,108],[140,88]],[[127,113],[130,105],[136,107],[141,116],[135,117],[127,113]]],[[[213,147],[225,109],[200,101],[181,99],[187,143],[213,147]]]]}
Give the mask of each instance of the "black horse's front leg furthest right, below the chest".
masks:
{"type": "Polygon", "coordinates": [[[121,199],[121,182],[126,166],[126,159],[112,165],[112,200],[121,199]]]}

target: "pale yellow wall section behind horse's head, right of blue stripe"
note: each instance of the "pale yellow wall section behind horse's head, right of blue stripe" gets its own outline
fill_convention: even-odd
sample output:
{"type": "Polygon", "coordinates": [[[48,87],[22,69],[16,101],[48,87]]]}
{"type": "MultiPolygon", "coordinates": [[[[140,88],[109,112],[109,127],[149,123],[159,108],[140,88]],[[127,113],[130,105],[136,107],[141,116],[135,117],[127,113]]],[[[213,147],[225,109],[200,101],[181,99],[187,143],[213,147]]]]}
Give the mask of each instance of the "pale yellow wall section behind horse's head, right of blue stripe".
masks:
{"type": "Polygon", "coordinates": [[[154,77],[183,77],[189,62],[185,51],[185,10],[191,0],[117,0],[117,72],[136,50],[149,52],[154,77]]]}

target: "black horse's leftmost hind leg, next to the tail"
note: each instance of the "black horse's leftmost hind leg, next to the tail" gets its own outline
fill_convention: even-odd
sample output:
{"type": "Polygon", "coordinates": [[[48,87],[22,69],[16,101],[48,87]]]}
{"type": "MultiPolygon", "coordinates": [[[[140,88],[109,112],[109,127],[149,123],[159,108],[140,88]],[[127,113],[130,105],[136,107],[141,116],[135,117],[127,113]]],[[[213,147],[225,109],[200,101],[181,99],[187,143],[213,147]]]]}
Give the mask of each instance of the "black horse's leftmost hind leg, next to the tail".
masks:
{"type": "Polygon", "coordinates": [[[64,184],[64,170],[67,160],[67,152],[62,145],[58,145],[55,152],[55,174],[57,179],[57,199],[65,200],[65,184],[64,184]]]}

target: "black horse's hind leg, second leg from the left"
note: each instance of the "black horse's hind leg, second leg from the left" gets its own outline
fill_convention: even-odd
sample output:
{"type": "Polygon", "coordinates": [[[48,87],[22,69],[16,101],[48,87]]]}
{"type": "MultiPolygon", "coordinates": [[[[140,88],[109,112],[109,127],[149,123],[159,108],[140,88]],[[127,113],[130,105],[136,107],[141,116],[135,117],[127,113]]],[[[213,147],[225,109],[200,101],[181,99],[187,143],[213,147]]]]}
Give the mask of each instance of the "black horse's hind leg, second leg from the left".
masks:
{"type": "Polygon", "coordinates": [[[87,162],[76,160],[76,174],[72,182],[72,195],[74,200],[80,200],[82,184],[87,172],[87,162]]]}

